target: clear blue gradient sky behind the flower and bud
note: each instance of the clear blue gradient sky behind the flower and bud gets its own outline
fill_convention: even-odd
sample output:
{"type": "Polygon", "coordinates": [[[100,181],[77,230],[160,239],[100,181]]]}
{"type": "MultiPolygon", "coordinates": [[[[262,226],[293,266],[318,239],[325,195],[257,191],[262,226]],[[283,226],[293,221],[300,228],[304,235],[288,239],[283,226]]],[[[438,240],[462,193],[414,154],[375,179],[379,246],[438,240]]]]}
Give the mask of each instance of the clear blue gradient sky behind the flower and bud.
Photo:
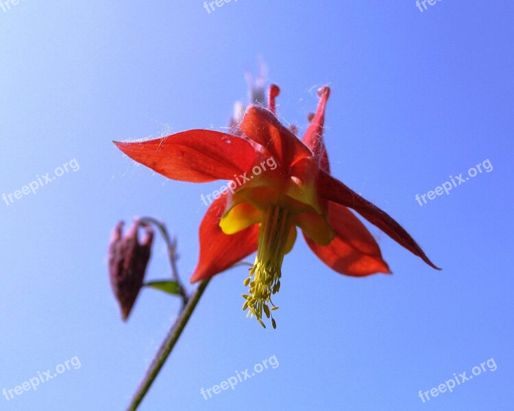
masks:
{"type": "MultiPolygon", "coordinates": [[[[1,410],[123,410],[178,312],[143,290],[122,323],[107,274],[112,227],[154,216],[178,236],[184,280],[199,196],[111,140],[221,130],[259,58],[278,113],[303,131],[332,94],[332,173],[402,223],[438,272],[370,226],[394,275],[344,277],[299,237],[278,329],[241,311],[246,269],[216,277],[140,410],[512,410],[513,26],[506,1],[24,0],[0,9],[0,194],[75,158],[36,195],[0,202],[0,390],[77,356],[1,410]],[[489,159],[450,195],[415,201],[489,159]],[[201,388],[276,356],[206,401],[201,388]],[[418,397],[493,358],[498,368],[418,397]]],[[[248,259],[252,261],[252,258],[248,259]]],[[[147,279],[169,275],[162,240],[147,279]]],[[[193,286],[190,288],[193,289],[193,286]]]]}

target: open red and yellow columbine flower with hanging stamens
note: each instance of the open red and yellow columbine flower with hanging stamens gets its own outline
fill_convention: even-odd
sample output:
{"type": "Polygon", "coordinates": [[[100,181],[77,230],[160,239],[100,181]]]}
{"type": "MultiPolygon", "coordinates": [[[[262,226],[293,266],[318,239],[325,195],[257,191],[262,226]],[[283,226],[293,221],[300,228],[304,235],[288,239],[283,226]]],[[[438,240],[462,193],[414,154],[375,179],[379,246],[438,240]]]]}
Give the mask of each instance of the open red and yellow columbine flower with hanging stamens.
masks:
{"type": "Polygon", "coordinates": [[[348,208],[437,269],[391,216],[331,177],[322,138],[330,89],[318,90],[319,104],[302,141],[276,118],[278,93],[277,86],[270,87],[268,109],[247,108],[241,136],[193,129],[145,142],[115,142],[130,158],[171,179],[230,180],[201,222],[200,255],[191,282],[208,279],[257,251],[244,282],[249,292],[243,295],[243,309],[264,326],[262,311],[269,318],[276,309],[271,295],[280,288],[282,260],[293,247],[296,227],[310,249],[338,273],[389,273],[373,236],[348,208]]]}

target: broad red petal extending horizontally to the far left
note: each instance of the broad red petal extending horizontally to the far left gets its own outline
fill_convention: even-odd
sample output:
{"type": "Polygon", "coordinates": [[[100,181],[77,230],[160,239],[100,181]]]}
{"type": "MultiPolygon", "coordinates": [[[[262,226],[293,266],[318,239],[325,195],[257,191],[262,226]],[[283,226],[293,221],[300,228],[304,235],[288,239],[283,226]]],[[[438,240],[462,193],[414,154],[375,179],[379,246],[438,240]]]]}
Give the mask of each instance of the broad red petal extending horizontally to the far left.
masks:
{"type": "Polygon", "coordinates": [[[252,166],[255,150],[243,138],[193,129],[143,142],[114,142],[132,160],[183,182],[232,179],[252,166]]]}

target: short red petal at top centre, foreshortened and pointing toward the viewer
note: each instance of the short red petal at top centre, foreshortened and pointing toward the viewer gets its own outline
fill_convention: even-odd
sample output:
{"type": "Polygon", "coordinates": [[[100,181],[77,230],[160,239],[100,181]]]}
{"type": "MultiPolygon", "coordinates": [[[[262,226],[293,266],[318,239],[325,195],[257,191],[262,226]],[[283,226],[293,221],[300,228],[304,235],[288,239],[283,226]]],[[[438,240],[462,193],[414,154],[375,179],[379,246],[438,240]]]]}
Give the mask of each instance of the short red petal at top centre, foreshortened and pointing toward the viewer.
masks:
{"type": "Polygon", "coordinates": [[[264,147],[284,171],[288,171],[298,160],[312,156],[310,150],[265,108],[250,106],[240,128],[264,147]]]}

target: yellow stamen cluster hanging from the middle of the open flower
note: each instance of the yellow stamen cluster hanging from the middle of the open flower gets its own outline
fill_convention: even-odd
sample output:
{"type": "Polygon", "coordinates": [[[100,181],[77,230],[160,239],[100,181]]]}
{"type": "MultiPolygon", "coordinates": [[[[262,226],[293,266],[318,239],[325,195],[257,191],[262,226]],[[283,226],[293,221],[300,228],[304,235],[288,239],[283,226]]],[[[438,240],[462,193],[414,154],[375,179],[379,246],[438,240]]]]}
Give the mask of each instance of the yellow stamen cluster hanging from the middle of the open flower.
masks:
{"type": "Polygon", "coordinates": [[[248,309],[247,316],[256,316],[257,321],[265,328],[262,311],[268,319],[271,317],[273,328],[277,326],[271,311],[278,307],[271,301],[271,295],[280,290],[280,268],[284,254],[291,249],[291,241],[295,240],[296,230],[289,222],[288,214],[287,208],[278,205],[267,207],[260,225],[257,257],[249,277],[243,282],[245,286],[249,286],[249,295],[243,294],[246,300],[243,310],[248,309]],[[271,308],[268,304],[271,304],[271,308]]]}

